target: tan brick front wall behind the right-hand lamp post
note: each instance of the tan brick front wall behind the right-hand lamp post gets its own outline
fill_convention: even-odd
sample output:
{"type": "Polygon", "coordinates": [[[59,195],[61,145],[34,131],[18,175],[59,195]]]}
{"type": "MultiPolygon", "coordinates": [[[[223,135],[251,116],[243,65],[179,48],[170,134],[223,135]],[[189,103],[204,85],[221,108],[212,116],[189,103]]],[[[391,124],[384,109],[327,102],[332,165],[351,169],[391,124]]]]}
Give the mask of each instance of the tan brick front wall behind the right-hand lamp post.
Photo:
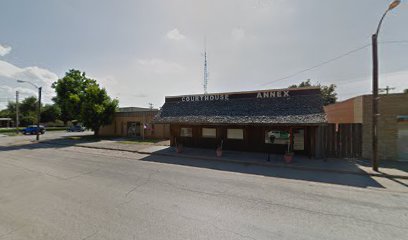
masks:
{"type": "MultiPolygon", "coordinates": [[[[363,157],[372,155],[372,102],[363,99],[363,157]]],[[[408,94],[380,95],[378,117],[378,154],[380,160],[397,160],[398,115],[408,115],[408,94]]]]}

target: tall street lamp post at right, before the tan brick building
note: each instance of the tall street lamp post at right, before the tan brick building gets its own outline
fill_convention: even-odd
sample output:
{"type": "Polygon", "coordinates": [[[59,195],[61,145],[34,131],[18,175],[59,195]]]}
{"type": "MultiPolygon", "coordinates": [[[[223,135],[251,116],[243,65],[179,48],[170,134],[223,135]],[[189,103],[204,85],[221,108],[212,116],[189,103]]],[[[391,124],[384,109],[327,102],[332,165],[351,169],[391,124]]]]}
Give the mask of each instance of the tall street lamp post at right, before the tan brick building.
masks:
{"type": "Polygon", "coordinates": [[[387,11],[382,15],[380,22],[377,26],[377,31],[372,35],[372,51],[373,51],[373,96],[372,96],[372,168],[378,172],[378,33],[380,32],[381,24],[389,11],[396,8],[401,3],[401,0],[393,1],[387,11]]]}

